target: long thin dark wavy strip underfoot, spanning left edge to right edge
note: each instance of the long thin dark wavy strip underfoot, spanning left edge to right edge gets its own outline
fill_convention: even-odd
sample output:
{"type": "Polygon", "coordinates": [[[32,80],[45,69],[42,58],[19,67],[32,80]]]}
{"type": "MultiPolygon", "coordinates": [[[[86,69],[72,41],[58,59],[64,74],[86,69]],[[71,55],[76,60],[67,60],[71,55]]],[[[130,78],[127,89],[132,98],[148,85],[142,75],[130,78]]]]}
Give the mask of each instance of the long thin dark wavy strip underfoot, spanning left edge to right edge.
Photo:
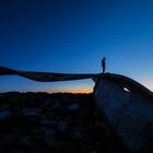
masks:
{"type": "MultiPolygon", "coordinates": [[[[81,80],[81,79],[94,79],[104,78],[127,87],[130,91],[134,91],[139,94],[144,94],[146,96],[153,97],[153,93],[145,86],[141,85],[137,81],[120,74],[114,73],[87,73],[87,74],[69,74],[69,73],[52,73],[52,72],[35,72],[35,71],[19,71],[12,70],[5,67],[0,67],[0,75],[17,74],[34,81],[40,82],[54,82],[54,81],[70,81],[70,80],[81,80]]],[[[96,85],[95,85],[96,86],[96,85]]]]}

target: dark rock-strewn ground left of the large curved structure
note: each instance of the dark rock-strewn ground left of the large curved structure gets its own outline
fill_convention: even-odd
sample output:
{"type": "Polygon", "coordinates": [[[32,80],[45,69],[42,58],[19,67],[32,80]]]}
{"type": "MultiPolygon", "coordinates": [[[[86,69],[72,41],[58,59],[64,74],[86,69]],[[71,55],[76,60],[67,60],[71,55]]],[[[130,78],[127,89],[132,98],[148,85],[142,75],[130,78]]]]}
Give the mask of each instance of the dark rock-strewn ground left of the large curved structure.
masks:
{"type": "Polygon", "coordinates": [[[0,94],[0,153],[110,153],[113,145],[92,94],[0,94]]]}

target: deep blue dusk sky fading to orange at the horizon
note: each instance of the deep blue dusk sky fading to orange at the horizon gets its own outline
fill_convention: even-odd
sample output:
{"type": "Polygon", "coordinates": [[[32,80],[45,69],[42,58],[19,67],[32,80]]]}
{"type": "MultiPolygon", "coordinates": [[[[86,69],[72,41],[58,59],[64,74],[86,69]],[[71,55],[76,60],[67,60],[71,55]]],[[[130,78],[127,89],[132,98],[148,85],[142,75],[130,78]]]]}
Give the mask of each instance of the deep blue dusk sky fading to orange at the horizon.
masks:
{"type": "MultiPolygon", "coordinates": [[[[1,0],[0,66],[130,76],[153,91],[150,0],[1,0]]],[[[91,80],[39,83],[0,76],[0,92],[92,92],[91,80]]]]}

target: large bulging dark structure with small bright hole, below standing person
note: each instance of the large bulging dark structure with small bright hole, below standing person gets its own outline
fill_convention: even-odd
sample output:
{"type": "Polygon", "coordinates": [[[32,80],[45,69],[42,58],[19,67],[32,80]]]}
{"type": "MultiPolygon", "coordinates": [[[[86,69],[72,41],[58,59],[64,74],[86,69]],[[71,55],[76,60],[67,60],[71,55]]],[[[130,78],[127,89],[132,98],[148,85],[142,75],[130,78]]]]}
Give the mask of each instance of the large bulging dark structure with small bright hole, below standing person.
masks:
{"type": "Polygon", "coordinates": [[[99,115],[107,118],[129,152],[152,152],[153,93],[123,75],[98,78],[94,95],[99,115]],[[150,145],[150,148],[149,148],[150,145]]]}

